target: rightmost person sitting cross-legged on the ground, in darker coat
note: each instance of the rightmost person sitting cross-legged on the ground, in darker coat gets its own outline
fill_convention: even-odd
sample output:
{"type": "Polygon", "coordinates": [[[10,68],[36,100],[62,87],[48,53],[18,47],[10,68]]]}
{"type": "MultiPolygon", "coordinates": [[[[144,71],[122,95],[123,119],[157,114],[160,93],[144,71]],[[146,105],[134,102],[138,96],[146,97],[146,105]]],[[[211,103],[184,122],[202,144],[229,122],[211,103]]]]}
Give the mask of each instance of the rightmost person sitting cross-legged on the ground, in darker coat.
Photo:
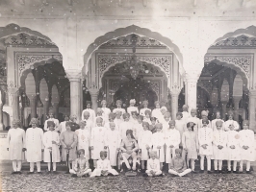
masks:
{"type": "Polygon", "coordinates": [[[185,176],[192,172],[192,169],[187,169],[186,161],[181,157],[181,150],[175,150],[176,156],[174,156],[170,161],[170,169],[168,170],[169,174],[175,176],[185,176]]]}

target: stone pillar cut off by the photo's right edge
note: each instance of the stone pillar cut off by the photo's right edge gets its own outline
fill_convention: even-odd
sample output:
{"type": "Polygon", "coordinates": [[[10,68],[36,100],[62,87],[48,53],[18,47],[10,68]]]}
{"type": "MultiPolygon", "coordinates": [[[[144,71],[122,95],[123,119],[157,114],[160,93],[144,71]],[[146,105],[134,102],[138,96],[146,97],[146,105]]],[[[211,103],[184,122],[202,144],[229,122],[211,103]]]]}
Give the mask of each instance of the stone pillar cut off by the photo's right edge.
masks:
{"type": "Polygon", "coordinates": [[[250,129],[256,132],[256,90],[249,91],[249,124],[250,129]]]}

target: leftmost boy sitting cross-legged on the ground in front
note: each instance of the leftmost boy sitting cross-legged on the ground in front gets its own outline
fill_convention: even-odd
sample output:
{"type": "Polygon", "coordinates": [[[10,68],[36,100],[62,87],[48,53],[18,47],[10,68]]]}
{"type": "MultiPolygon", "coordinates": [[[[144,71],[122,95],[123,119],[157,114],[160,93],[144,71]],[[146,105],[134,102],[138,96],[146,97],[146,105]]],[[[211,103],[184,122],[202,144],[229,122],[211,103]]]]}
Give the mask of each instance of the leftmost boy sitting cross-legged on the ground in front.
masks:
{"type": "Polygon", "coordinates": [[[91,170],[89,168],[88,159],[85,157],[85,150],[78,150],[77,154],[79,157],[75,159],[74,169],[70,169],[69,173],[72,174],[72,177],[90,176],[91,170]]]}

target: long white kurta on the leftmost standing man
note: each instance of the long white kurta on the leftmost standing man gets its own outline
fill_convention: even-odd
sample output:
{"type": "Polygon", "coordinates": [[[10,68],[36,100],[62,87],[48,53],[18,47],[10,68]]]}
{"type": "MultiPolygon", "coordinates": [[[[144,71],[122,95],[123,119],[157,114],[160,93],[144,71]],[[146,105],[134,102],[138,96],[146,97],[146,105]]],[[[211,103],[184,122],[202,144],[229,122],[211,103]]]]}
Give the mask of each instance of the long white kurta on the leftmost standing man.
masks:
{"type": "Polygon", "coordinates": [[[25,131],[20,128],[10,129],[7,140],[10,160],[24,160],[22,148],[26,148],[25,131]]]}

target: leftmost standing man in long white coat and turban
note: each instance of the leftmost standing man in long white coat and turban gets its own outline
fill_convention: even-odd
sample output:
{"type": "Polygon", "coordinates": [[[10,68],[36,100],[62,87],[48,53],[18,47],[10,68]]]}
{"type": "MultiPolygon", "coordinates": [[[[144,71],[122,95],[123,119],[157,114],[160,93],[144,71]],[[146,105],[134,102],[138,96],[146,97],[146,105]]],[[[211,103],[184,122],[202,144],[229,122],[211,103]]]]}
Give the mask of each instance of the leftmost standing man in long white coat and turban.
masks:
{"type": "Polygon", "coordinates": [[[25,131],[20,129],[21,122],[13,120],[13,129],[7,134],[8,148],[10,159],[13,161],[13,173],[21,174],[21,161],[24,160],[24,152],[26,151],[25,131]]]}

